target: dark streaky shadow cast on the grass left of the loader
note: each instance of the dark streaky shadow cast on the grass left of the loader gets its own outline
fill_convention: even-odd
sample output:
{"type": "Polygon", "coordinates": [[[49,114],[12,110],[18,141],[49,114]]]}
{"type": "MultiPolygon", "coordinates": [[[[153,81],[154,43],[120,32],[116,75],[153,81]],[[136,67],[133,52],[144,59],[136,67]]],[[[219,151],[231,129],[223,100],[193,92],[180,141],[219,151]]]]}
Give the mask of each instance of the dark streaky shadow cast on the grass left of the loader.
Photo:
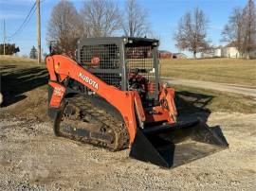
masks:
{"type": "Polygon", "coordinates": [[[1,92],[3,107],[26,98],[24,93],[47,83],[47,71],[42,67],[19,68],[15,65],[1,66],[1,92]]]}

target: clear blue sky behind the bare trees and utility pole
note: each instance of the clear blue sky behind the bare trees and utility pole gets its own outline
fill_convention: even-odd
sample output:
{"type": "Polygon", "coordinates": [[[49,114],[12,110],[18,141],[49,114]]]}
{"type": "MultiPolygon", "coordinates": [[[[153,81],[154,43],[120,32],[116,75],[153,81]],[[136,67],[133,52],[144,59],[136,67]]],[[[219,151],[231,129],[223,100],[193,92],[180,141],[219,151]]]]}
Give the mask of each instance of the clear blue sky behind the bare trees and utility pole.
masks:
{"type": "MultiPolygon", "coordinates": [[[[80,10],[84,0],[71,0],[75,7],[80,10]]],[[[116,0],[120,9],[124,7],[123,0],[116,0]]],[[[7,36],[11,36],[14,31],[25,20],[29,9],[35,0],[0,0],[0,42],[3,43],[3,21],[6,20],[7,36]]],[[[58,0],[42,0],[41,22],[42,22],[42,43],[43,51],[47,52],[46,46],[46,26],[50,17],[51,9],[58,3],[58,0]]],[[[140,6],[148,10],[149,22],[155,32],[160,37],[160,48],[177,52],[174,43],[174,30],[179,18],[188,10],[199,7],[203,9],[210,20],[209,40],[214,45],[221,44],[221,31],[228,23],[229,13],[233,8],[245,7],[247,0],[137,0],[140,6]]],[[[20,55],[28,55],[32,45],[37,44],[36,36],[36,15],[33,14],[31,20],[8,43],[16,43],[21,52],[20,55]]]]}

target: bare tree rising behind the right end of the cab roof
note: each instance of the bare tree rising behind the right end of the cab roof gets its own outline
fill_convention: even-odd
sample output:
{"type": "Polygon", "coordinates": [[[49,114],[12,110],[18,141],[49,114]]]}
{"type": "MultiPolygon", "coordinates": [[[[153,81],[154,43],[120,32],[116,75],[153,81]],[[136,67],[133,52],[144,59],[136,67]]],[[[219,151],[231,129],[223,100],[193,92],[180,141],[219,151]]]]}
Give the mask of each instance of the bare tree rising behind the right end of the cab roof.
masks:
{"type": "Polygon", "coordinates": [[[127,0],[124,11],[122,28],[125,36],[144,37],[151,34],[147,11],[139,7],[136,0],[127,0]]]}

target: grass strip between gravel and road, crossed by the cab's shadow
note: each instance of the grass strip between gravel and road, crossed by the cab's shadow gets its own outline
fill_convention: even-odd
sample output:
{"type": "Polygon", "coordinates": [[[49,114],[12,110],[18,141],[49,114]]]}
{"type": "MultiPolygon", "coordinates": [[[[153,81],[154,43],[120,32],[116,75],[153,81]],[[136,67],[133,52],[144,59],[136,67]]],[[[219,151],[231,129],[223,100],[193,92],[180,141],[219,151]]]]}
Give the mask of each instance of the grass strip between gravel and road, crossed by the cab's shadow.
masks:
{"type": "Polygon", "coordinates": [[[176,105],[181,113],[236,112],[256,113],[255,98],[232,93],[173,85],[176,105]]]}

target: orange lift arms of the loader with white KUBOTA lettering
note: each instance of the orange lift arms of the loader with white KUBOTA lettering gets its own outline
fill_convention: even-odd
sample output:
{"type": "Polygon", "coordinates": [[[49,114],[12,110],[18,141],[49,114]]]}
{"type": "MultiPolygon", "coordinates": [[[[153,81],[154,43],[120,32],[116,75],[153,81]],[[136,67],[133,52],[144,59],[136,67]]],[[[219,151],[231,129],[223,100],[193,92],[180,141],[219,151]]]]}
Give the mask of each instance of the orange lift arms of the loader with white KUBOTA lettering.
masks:
{"type": "Polygon", "coordinates": [[[49,101],[50,107],[60,107],[65,93],[64,79],[73,78],[104,98],[119,111],[129,131],[130,144],[134,142],[137,125],[143,128],[147,123],[159,121],[175,123],[176,109],[172,88],[160,87],[159,101],[161,104],[155,106],[153,112],[148,113],[144,111],[137,91],[121,91],[115,86],[108,85],[68,57],[48,56],[46,67],[49,72],[49,85],[54,89],[49,101]],[[137,119],[140,124],[137,124],[137,119]]]}

